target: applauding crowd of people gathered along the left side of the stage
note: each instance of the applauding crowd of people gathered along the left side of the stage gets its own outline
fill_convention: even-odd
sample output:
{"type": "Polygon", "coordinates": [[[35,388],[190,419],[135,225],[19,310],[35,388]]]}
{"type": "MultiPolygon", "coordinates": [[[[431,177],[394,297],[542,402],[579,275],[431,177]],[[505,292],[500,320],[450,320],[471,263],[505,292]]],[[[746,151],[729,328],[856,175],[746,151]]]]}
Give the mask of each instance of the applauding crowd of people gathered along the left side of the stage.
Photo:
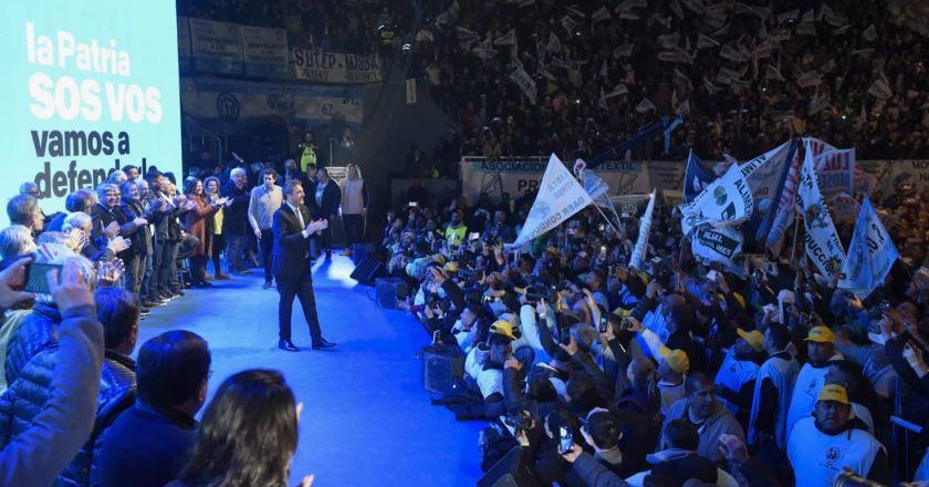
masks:
{"type": "MultiPolygon", "coordinates": [[[[284,166],[281,183],[306,188],[289,205],[305,204],[314,221],[342,219],[349,242],[363,239],[368,200],[356,166],[340,183],[312,163],[305,172],[294,160],[284,166]]],[[[300,407],[279,372],[230,376],[198,423],[211,374],[202,338],[166,332],[132,358],[139,321],[185,288],[229,279],[223,269],[248,273],[249,260],[263,266],[265,289],[279,276],[276,172],[195,173],[181,193],[170,173],[126,166],[51,215],[33,183],[9,199],[11,225],[0,230],[0,485],[286,485],[300,407]]],[[[317,227],[325,229],[311,237],[314,257],[331,259],[331,229],[317,227]]]]}

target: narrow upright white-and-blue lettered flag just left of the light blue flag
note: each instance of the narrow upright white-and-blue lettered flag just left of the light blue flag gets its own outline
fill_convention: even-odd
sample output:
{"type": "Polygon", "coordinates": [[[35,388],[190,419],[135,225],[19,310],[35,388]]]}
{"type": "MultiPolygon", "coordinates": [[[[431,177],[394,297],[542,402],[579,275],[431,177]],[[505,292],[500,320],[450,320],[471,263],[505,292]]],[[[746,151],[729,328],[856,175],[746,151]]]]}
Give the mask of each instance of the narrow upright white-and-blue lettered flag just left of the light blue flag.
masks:
{"type": "Polygon", "coordinates": [[[841,269],[845,260],[845,250],[835,232],[829,210],[823,194],[813,163],[813,149],[810,141],[806,145],[803,167],[800,170],[800,189],[797,190],[800,210],[803,211],[803,227],[806,230],[804,244],[806,256],[824,277],[829,277],[841,269]]]}

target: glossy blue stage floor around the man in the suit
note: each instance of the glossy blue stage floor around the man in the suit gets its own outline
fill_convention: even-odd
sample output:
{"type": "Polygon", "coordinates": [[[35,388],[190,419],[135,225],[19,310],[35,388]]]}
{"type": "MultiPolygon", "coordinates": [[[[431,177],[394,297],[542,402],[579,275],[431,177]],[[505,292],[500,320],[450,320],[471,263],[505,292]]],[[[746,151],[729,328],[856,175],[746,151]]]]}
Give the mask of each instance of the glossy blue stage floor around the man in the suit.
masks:
{"type": "Polygon", "coordinates": [[[458,423],[431,406],[415,354],[429,338],[406,312],[384,310],[368,288],[348,278],[348,258],[314,266],[324,336],[335,351],[310,349],[310,333],[294,302],[293,342],[278,343],[278,293],[263,290],[254,269],[230,281],[156,308],[143,320],[139,345],[164,331],[186,329],[212,350],[210,394],[248,367],[282,371],[304,403],[291,485],[315,474],[319,486],[473,486],[480,478],[480,422],[458,423]]]}

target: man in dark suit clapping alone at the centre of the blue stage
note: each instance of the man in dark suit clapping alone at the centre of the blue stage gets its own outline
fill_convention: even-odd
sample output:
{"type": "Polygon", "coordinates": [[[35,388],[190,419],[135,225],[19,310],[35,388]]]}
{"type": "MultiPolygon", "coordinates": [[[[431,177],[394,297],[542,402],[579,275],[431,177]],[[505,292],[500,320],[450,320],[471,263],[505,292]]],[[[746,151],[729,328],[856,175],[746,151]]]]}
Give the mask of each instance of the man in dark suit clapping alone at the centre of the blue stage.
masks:
{"type": "Polygon", "coordinates": [[[294,297],[300,299],[300,305],[303,307],[313,350],[335,346],[335,343],[323,338],[320,329],[316,298],[313,294],[313,274],[310,269],[309,238],[317,231],[325,230],[328,222],[322,218],[316,221],[310,219],[310,210],[303,205],[303,185],[294,180],[286,182],[284,204],[274,213],[271,225],[271,231],[274,232],[273,271],[278,281],[278,293],[281,296],[278,304],[278,348],[290,352],[300,350],[291,341],[294,297]]]}

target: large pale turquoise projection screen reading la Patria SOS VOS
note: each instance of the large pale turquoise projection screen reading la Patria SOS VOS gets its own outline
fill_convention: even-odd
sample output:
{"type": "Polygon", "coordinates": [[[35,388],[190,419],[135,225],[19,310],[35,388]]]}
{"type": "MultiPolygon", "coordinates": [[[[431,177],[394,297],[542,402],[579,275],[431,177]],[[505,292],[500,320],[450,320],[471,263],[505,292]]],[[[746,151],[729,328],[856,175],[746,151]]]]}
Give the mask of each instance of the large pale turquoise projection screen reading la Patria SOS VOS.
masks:
{"type": "Polygon", "coordinates": [[[51,214],[115,167],[180,176],[174,1],[30,0],[1,10],[4,207],[25,182],[51,214]]]}

